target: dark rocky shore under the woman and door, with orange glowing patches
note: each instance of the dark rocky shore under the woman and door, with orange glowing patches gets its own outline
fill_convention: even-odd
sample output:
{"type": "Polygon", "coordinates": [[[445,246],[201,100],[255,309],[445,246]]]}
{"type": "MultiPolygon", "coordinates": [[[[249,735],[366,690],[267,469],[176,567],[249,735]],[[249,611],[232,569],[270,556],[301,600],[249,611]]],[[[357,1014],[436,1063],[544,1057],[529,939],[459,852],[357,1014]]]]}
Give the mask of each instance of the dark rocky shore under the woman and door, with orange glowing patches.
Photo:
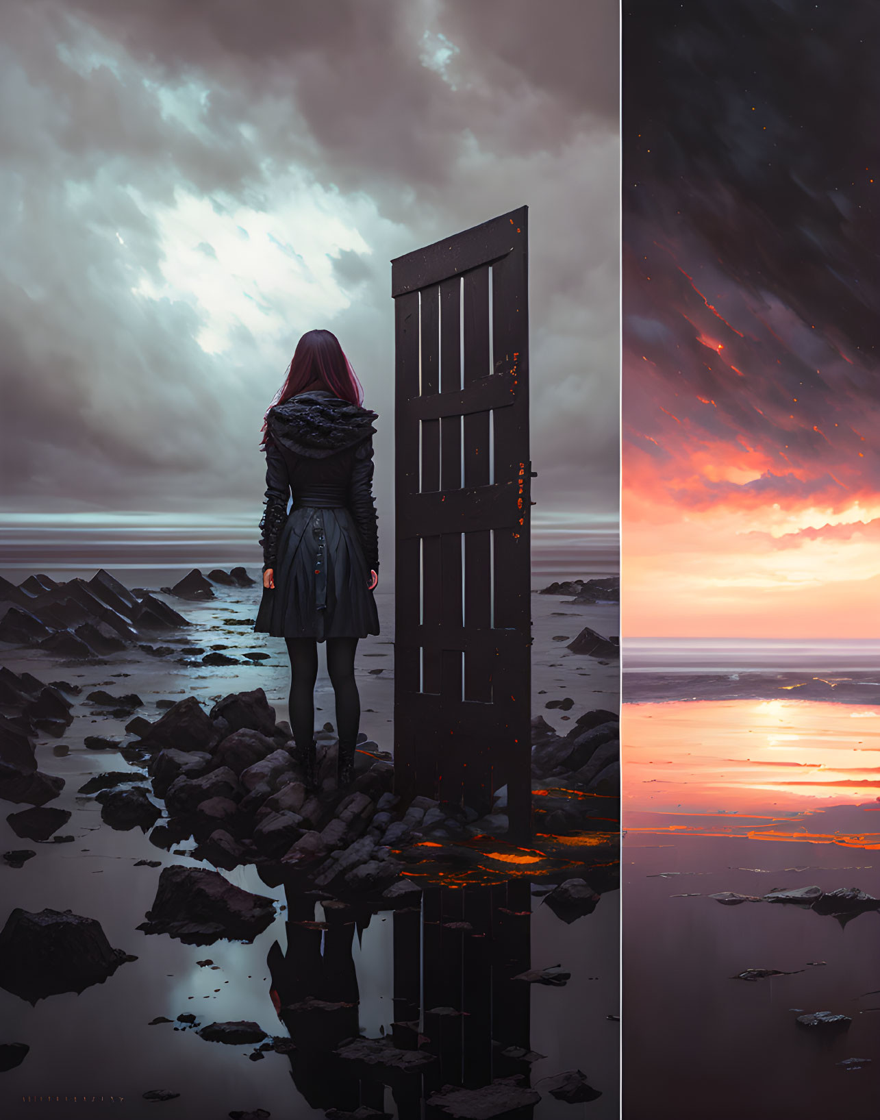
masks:
{"type": "MultiPolygon", "coordinates": [[[[210,575],[240,586],[243,579],[250,580],[243,569],[210,575]]],[[[610,594],[616,580],[579,580],[551,585],[544,591],[560,594],[561,587],[567,594],[578,587],[587,594],[598,584],[610,594]]],[[[214,594],[197,569],[162,590],[189,598],[214,594]]],[[[129,590],[103,570],[92,580],[65,584],[32,576],[18,587],[8,585],[3,594],[13,601],[18,596],[31,608],[10,607],[0,622],[2,628],[15,612],[4,633],[27,631],[24,644],[48,648],[44,637],[31,633],[28,619],[41,626],[54,619],[59,628],[50,652],[76,650],[83,660],[94,652],[94,644],[85,648],[84,627],[101,634],[115,627],[121,635],[133,632],[135,624],[143,628],[187,625],[151,592],[129,590]],[[86,608],[92,619],[77,622],[86,608]],[[65,618],[71,626],[76,624],[73,629],[60,628],[65,618]]],[[[599,656],[608,650],[616,652],[615,641],[584,627],[569,648],[581,652],[589,646],[599,656]]],[[[155,647],[149,651],[157,652],[155,647]]],[[[37,811],[59,794],[63,780],[37,769],[32,736],[38,730],[63,735],[73,718],[68,694],[78,691],[66,681],[44,684],[32,674],[0,669],[0,796],[37,811]]],[[[320,889],[393,898],[394,892],[406,894],[413,865],[446,862],[466,874],[486,864],[480,860],[480,847],[486,847],[480,841],[488,839],[495,842],[489,847],[497,847],[508,831],[506,787],[496,791],[493,810],[484,815],[468,805],[440,804],[424,796],[402,801],[394,792],[392,755],[364,732],[358,736],[354,782],[337,790],[338,740],[331,724],[316,732],[317,786],[307,790],[290,727],[277,722],[261,688],[230,693],[207,711],[195,696],[158,701],[166,710],[155,722],[134,715],[142,706],[137,694],[95,690],[85,699],[96,706],[96,715],[131,717],[125,724],[128,738],[91,736],[86,747],[119,750],[138,768],[96,775],[78,792],[101,803],[102,820],[110,827],[150,829],[157,847],[170,850],[191,838],[195,848],[188,853],[213,867],[231,870],[255,864],[266,881],[296,878],[320,889]]],[[[549,701],[546,707],[567,703],[571,701],[549,701]]],[[[544,850],[532,862],[542,864],[543,857],[552,864],[567,837],[605,832],[609,842],[616,840],[618,729],[618,716],[603,709],[582,715],[565,735],[542,716],[533,718],[533,823],[544,850]]],[[[22,825],[27,823],[22,814],[18,818],[22,825]]],[[[35,819],[31,827],[45,829],[46,822],[35,819]]]]}

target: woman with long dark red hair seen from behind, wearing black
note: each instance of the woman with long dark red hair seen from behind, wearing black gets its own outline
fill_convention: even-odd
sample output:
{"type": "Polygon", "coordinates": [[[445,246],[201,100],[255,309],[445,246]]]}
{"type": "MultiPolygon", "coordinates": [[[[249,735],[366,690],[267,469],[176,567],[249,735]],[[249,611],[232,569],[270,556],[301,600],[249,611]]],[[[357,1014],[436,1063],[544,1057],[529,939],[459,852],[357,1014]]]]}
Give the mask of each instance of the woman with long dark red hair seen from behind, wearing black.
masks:
{"type": "Polygon", "coordinates": [[[372,421],[335,335],[305,334],[264,422],[263,598],[254,629],[287,642],[290,725],[315,784],[318,642],[336,696],[338,784],[352,781],[361,721],[358,638],[378,634],[372,421]],[[288,498],[293,505],[288,513],[288,498]]]}

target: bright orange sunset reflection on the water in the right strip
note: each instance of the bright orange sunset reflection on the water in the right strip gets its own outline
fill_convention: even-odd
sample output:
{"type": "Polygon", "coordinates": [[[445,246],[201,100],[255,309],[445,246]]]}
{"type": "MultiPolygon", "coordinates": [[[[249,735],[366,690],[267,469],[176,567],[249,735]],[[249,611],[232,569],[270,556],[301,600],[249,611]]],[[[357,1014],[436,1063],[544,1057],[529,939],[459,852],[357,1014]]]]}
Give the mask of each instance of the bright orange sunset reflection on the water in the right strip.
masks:
{"type": "Polygon", "coordinates": [[[626,811],[880,808],[880,708],[805,700],[626,704],[626,811]]]}

